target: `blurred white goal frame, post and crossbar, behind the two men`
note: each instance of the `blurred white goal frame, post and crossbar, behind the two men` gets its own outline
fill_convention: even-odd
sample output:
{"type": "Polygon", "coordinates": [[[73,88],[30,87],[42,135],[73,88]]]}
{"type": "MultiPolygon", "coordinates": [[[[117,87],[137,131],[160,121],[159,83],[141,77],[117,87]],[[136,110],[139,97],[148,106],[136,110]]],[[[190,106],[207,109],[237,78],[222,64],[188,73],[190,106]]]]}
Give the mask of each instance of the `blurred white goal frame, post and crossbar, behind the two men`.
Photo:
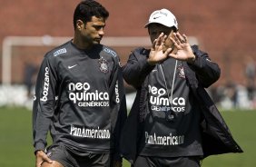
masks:
{"type": "MultiPolygon", "coordinates": [[[[12,58],[15,46],[57,46],[71,40],[70,36],[6,36],[2,45],[2,83],[10,85],[12,83],[12,58]]],[[[190,44],[198,44],[194,36],[189,37],[190,44]]],[[[137,47],[150,46],[149,36],[109,36],[103,37],[102,44],[111,47],[137,47]]]]}

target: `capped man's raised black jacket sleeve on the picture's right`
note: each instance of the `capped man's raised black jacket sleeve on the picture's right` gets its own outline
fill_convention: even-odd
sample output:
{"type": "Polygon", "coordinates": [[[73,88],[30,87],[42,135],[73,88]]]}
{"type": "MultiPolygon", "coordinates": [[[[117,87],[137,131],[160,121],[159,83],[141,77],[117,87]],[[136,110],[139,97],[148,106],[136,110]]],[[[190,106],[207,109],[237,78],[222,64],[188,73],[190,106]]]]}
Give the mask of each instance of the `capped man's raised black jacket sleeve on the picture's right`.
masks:
{"type": "Polygon", "coordinates": [[[220,78],[221,69],[218,64],[212,62],[207,53],[199,50],[197,45],[192,45],[192,51],[196,58],[194,63],[188,65],[195,72],[199,83],[207,88],[220,78]]]}

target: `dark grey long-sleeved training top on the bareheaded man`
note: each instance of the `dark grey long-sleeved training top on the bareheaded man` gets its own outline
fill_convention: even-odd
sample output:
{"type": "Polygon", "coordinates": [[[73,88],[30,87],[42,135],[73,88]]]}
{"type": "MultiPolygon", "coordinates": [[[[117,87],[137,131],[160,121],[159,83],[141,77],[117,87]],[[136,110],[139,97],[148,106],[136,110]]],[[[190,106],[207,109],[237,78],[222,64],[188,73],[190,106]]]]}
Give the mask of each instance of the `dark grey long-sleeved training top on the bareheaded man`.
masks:
{"type": "Polygon", "coordinates": [[[71,41],[45,54],[33,107],[34,150],[53,144],[72,152],[119,153],[126,118],[118,55],[102,44],[86,51],[71,41]]]}

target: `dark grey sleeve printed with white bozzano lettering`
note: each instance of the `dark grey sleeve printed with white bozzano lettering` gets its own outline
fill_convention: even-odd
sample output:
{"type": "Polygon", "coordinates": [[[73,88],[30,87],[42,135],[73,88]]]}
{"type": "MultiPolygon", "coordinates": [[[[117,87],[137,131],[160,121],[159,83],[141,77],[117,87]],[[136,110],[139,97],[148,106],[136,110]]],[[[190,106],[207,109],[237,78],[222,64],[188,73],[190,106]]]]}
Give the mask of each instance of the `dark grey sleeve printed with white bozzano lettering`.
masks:
{"type": "Polygon", "coordinates": [[[34,152],[44,150],[46,137],[54,115],[56,77],[53,63],[44,56],[35,85],[33,103],[34,152]]]}

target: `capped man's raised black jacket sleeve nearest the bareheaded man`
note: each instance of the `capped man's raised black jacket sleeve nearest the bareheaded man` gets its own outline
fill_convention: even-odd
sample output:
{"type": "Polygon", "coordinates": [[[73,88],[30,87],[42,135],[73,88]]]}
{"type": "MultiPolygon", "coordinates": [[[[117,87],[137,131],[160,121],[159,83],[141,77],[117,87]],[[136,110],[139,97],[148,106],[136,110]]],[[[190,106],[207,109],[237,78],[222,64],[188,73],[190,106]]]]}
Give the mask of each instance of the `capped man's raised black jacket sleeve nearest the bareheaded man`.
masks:
{"type": "Polygon", "coordinates": [[[147,62],[149,51],[137,48],[130,54],[127,64],[123,66],[123,78],[126,83],[138,89],[141,87],[145,77],[151,73],[154,65],[147,62]]]}

